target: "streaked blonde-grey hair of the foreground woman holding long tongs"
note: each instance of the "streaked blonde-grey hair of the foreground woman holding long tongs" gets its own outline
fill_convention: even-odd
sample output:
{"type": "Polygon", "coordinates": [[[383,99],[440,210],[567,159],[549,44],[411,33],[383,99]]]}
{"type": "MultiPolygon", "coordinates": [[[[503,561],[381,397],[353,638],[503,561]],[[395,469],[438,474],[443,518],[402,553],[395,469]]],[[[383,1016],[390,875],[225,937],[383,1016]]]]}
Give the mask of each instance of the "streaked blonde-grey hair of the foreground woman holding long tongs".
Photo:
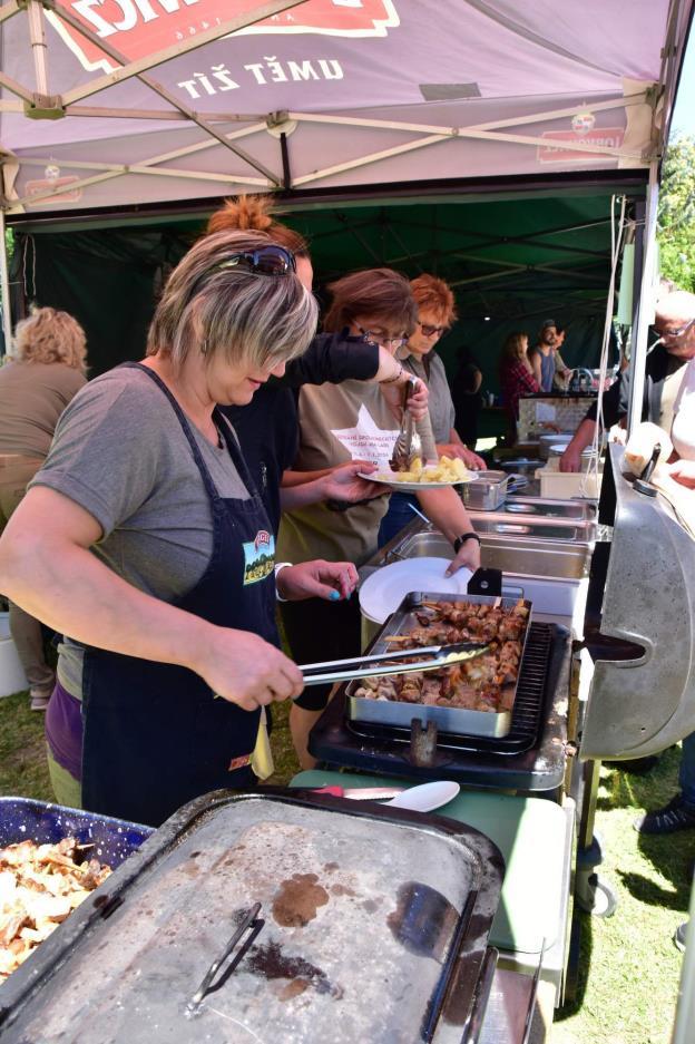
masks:
{"type": "Polygon", "coordinates": [[[212,360],[271,368],[302,355],[319,305],[294,272],[262,275],[221,267],[232,254],[273,243],[263,232],[217,232],[199,240],[172,272],[147,336],[147,354],[180,369],[192,351],[212,360]]]}

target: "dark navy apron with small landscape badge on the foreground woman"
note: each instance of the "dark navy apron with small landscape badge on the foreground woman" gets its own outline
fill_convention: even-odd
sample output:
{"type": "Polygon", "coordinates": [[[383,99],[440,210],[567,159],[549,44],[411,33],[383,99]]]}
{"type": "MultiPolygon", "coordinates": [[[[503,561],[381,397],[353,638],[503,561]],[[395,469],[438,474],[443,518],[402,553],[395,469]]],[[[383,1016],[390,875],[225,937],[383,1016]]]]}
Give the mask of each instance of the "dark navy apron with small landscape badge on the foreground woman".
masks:
{"type": "MultiPolygon", "coordinates": [[[[248,500],[218,495],[168,388],[147,367],[125,365],[141,370],[166,394],[213,510],[213,555],[207,569],[188,594],[172,604],[217,626],[251,631],[278,645],[273,534],[228,425],[216,416],[248,500]]],[[[88,646],[82,690],[86,809],[159,826],[193,798],[255,782],[249,759],[260,711],[244,711],[215,697],[193,671],[88,646]]]]}

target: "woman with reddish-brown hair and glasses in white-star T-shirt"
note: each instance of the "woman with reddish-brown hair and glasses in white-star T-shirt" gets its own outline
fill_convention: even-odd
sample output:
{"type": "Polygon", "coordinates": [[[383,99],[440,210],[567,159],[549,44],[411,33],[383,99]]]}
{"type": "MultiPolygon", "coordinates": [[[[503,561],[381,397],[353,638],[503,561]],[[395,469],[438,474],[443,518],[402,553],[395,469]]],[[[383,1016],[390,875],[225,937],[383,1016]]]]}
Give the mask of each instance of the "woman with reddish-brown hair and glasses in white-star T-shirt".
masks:
{"type": "MultiPolygon", "coordinates": [[[[344,331],[397,352],[408,343],[417,321],[417,306],[404,276],[390,269],[355,272],[329,286],[332,303],[324,319],[330,333],[344,331]]],[[[350,460],[351,433],[360,414],[371,430],[393,432],[398,421],[379,386],[358,381],[304,386],[300,393],[298,470],[313,471],[350,460]]],[[[451,487],[423,489],[419,504],[453,545],[449,573],[461,566],[478,568],[479,538],[463,505],[451,487]]],[[[389,492],[346,511],[331,511],[325,504],[288,511],[283,516],[278,553],[300,562],[314,555],[339,557],[358,567],[375,552],[379,526],[388,510],[389,492]]],[[[311,662],[340,658],[360,651],[360,612],[352,602],[323,606],[307,601],[301,612],[282,605],[283,623],[295,658],[311,662]],[[321,655],[317,657],[317,653],[321,655]]],[[[292,708],[291,725],[304,767],[311,764],[306,738],[329,697],[329,686],[312,686],[292,708]]]]}

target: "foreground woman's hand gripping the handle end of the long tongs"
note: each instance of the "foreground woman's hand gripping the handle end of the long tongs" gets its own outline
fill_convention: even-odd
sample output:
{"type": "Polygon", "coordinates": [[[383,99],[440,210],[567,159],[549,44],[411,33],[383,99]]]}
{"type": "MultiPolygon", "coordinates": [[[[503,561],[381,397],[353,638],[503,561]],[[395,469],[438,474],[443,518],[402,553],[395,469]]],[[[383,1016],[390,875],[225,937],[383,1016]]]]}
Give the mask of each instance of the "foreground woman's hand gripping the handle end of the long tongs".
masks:
{"type": "Polygon", "coordinates": [[[294,699],[304,689],[297,665],[249,631],[213,627],[193,670],[214,693],[245,711],[294,699]]]}

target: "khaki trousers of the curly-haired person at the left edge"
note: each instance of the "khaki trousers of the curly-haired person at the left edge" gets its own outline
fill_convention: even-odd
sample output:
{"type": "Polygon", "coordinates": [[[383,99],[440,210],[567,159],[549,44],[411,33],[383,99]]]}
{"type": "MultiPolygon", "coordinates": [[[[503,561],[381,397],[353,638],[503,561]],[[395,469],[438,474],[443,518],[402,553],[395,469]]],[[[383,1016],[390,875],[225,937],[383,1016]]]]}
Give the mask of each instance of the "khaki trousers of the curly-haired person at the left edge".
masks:
{"type": "MultiPolygon", "coordinates": [[[[39,470],[40,457],[22,457],[18,453],[0,455],[0,534],[27,491],[27,484],[39,470]]],[[[10,605],[10,631],[29,687],[50,695],[56,676],[43,656],[43,634],[38,619],[25,613],[12,602],[10,605]]]]}

